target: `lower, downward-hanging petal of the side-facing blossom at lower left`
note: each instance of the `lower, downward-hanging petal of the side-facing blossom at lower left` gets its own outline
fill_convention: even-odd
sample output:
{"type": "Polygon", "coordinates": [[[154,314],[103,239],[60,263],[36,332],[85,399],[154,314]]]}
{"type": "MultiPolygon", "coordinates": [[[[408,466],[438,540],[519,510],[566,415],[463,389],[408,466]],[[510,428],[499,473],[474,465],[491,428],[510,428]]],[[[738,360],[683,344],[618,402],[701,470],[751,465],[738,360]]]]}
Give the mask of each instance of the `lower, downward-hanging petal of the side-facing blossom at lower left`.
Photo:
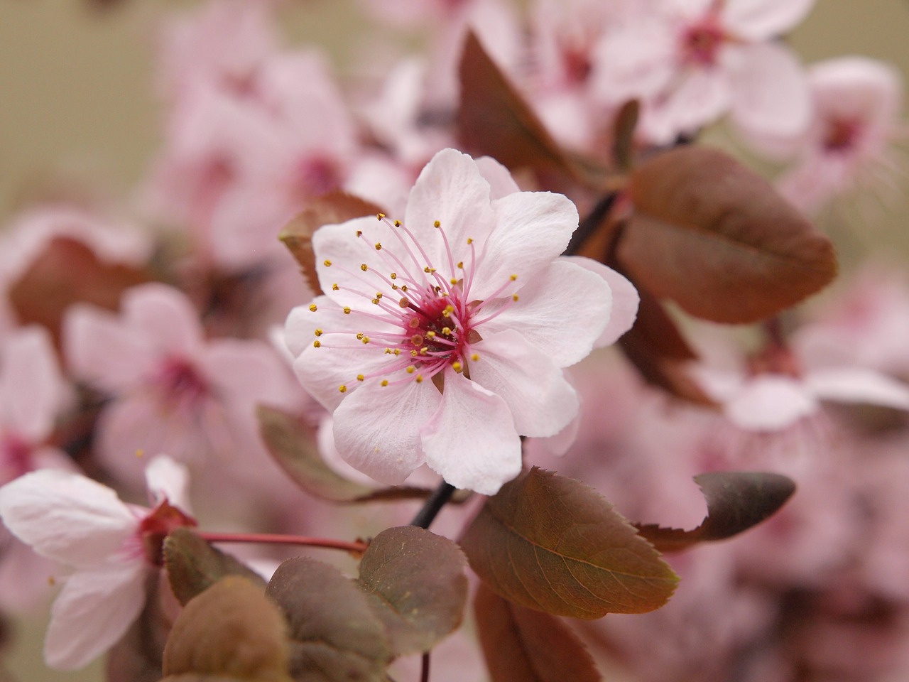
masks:
{"type": "Polygon", "coordinates": [[[145,606],[145,563],[107,563],[75,573],[54,602],[45,660],[65,670],[83,667],[125,635],[145,606]]]}

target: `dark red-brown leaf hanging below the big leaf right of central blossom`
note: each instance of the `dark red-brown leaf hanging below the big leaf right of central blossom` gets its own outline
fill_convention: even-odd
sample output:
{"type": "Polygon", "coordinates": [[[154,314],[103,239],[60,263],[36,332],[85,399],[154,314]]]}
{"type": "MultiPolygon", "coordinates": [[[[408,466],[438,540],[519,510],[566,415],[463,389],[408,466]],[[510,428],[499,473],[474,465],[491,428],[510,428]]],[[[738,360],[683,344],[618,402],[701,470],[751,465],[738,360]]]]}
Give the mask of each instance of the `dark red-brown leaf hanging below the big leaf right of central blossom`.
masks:
{"type": "Polygon", "coordinates": [[[634,326],[619,339],[624,355],[649,384],[699,405],[714,401],[688,376],[686,366],[697,358],[682,332],[663,306],[646,289],[637,286],[641,302],[634,326]]]}

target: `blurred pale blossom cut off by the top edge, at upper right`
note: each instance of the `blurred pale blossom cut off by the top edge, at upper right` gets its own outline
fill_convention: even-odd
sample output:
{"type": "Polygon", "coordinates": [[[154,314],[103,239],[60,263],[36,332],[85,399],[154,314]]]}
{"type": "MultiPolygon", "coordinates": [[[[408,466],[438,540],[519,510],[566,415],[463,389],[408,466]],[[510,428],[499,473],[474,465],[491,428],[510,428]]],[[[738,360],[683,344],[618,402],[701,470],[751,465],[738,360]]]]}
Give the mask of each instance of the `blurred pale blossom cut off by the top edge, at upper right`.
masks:
{"type": "Polygon", "coordinates": [[[657,144],[730,113],[748,131],[794,135],[808,89],[794,55],[770,42],[814,0],[666,0],[632,13],[596,50],[598,96],[643,101],[640,132],[657,144]]]}

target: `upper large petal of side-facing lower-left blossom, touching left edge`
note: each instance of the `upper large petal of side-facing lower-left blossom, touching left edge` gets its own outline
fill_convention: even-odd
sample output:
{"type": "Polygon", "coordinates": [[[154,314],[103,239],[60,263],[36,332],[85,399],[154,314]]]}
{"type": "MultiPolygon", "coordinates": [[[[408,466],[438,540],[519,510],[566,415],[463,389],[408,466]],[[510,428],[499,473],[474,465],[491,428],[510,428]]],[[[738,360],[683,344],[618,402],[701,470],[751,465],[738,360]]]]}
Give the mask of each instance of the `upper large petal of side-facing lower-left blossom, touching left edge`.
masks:
{"type": "Polygon", "coordinates": [[[75,567],[103,562],[138,524],[111,488],[50,469],[0,488],[0,517],[38,554],[75,567]]]}

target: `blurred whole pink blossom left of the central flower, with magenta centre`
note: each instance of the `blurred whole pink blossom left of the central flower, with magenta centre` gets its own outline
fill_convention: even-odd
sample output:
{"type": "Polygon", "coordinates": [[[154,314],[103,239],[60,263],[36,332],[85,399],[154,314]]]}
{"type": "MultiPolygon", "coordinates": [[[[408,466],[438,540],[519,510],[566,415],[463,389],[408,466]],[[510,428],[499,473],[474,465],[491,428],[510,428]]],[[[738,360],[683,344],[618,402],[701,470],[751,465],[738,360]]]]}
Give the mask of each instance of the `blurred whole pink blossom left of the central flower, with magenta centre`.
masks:
{"type": "Polygon", "coordinates": [[[271,347],[206,340],[188,299],[161,284],[128,290],[119,316],[74,306],[64,344],[73,374],[113,398],[99,420],[98,454],[127,480],[143,450],[261,471],[255,405],[295,400],[271,347]]]}

